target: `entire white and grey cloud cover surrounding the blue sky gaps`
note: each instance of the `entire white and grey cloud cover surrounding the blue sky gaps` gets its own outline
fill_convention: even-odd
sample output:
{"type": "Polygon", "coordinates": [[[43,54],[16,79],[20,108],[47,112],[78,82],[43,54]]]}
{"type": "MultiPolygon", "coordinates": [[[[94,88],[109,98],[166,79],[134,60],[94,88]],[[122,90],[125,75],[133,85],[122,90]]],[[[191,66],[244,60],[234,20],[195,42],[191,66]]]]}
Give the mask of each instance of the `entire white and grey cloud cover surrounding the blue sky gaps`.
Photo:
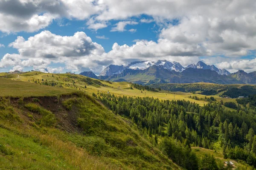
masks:
{"type": "Polygon", "coordinates": [[[108,53],[84,33],[66,37],[43,31],[28,40],[18,37],[10,47],[17,48],[19,54],[6,54],[0,66],[23,66],[25,62],[32,65],[31,58],[36,58],[46,66],[49,62],[64,62],[66,68],[73,70],[88,65],[89,69],[102,69],[113,61],[166,58],[185,65],[202,56],[206,61],[214,59],[212,56],[224,56],[216,65],[224,67],[230,61],[227,68],[231,70],[253,70],[249,66],[254,65],[254,60],[240,58],[256,49],[255,9],[255,0],[0,0],[0,31],[5,33],[38,31],[63,17],[85,20],[87,28],[94,31],[115,21],[118,23],[111,31],[127,31],[127,25],[139,24],[133,20],[142,14],[152,19],[142,18],[140,23],[155,21],[161,26],[156,42],[137,40],[130,46],[114,43],[108,53]],[[230,60],[226,61],[228,57],[230,60]]]}

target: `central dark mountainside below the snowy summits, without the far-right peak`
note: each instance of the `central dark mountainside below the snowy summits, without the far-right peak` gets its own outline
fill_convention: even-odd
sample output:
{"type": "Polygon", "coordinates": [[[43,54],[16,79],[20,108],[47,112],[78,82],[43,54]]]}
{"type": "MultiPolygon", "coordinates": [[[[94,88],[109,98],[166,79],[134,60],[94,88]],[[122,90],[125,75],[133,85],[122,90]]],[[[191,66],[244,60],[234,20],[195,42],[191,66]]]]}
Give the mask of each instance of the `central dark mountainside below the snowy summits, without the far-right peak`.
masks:
{"type": "Polygon", "coordinates": [[[244,82],[220,75],[216,71],[187,68],[182,72],[169,71],[163,65],[153,65],[145,70],[125,69],[120,74],[108,77],[108,80],[116,81],[125,79],[128,82],[139,84],[154,83],[192,83],[192,82],[211,82],[217,84],[244,84],[244,82]]]}

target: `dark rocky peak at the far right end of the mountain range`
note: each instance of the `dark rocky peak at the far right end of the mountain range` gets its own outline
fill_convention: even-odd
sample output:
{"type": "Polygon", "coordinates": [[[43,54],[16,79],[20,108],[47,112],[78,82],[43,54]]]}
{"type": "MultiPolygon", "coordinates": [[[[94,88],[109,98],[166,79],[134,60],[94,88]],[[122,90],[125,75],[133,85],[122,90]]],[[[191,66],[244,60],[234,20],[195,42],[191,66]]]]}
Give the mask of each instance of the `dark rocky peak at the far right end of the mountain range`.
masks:
{"type": "Polygon", "coordinates": [[[256,84],[256,71],[246,73],[243,70],[239,70],[236,73],[231,73],[229,77],[242,81],[246,84],[256,84]]]}

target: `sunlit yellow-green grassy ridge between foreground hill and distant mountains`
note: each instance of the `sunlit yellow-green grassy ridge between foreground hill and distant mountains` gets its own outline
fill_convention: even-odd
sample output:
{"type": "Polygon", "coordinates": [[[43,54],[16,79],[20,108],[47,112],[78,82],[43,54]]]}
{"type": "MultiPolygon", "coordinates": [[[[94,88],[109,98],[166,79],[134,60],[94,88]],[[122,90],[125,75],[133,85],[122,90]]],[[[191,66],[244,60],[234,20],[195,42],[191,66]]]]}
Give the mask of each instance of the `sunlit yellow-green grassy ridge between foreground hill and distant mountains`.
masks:
{"type": "MultiPolygon", "coordinates": [[[[199,105],[204,105],[207,103],[207,101],[201,100],[201,98],[204,99],[204,95],[200,94],[192,94],[192,93],[186,93],[181,91],[171,91],[168,89],[161,90],[159,92],[153,92],[153,91],[141,91],[136,88],[131,89],[131,83],[129,82],[109,82],[109,81],[102,81],[98,79],[91,79],[88,77],[84,77],[82,75],[73,75],[73,74],[47,74],[47,73],[41,73],[41,72],[25,72],[22,74],[7,74],[7,73],[1,73],[0,77],[6,78],[6,79],[12,79],[12,80],[19,80],[24,82],[29,82],[32,84],[37,85],[44,85],[44,87],[51,86],[52,84],[55,87],[62,87],[61,89],[73,89],[73,90],[80,90],[85,91],[88,94],[97,93],[97,92],[103,92],[107,93],[108,91],[110,94],[115,94],[118,96],[151,96],[154,98],[159,99],[175,99],[175,100],[189,100],[191,102],[196,102],[199,105]],[[43,81],[44,80],[44,81],[43,81]],[[38,82],[39,81],[39,82],[38,82]],[[85,88],[86,86],[86,88],[85,88]],[[198,96],[200,100],[195,100],[192,98],[189,98],[189,96],[198,96]]],[[[215,85],[211,83],[195,83],[195,85],[202,85],[202,87],[208,87],[215,85]]],[[[169,85],[169,84],[168,84],[169,85]]],[[[175,85],[183,85],[183,84],[175,84],[175,85]]],[[[218,85],[217,85],[218,86],[218,85]]],[[[236,85],[234,85],[236,86],[236,85]]],[[[162,87],[161,87],[162,88],[162,87]]],[[[26,93],[24,93],[26,94],[26,93]]],[[[210,96],[207,96],[210,97],[210,96]]],[[[223,100],[224,102],[236,102],[235,99],[222,99],[219,96],[214,96],[214,98],[217,101],[223,100]]]]}

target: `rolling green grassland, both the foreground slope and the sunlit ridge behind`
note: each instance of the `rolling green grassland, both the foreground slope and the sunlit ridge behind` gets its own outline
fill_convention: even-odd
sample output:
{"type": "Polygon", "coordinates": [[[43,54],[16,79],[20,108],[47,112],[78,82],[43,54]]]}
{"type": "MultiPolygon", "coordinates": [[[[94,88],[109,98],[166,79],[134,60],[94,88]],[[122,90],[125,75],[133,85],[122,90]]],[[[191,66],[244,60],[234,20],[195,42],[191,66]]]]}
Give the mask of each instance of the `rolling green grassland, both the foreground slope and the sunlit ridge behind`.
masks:
{"type": "MultiPolygon", "coordinates": [[[[154,74],[154,69],[157,68],[150,67],[146,74],[164,74],[161,70],[154,74]]],[[[129,82],[82,75],[26,72],[0,73],[0,77],[0,169],[182,169],[173,163],[172,156],[162,151],[161,141],[165,138],[158,136],[161,147],[156,147],[154,135],[148,137],[145,130],[144,133],[138,130],[139,125],[133,119],[116,114],[114,108],[105,104],[104,96],[109,92],[110,96],[124,99],[145,96],[163,101],[175,99],[198,106],[212,102],[209,96],[206,99],[201,94],[158,88],[150,91],[129,82]],[[95,99],[91,95],[103,97],[95,99]],[[17,142],[9,142],[10,139],[17,142]],[[33,163],[29,163],[31,160],[33,163]]],[[[209,83],[192,85],[203,86],[201,89],[220,88],[209,83]]],[[[236,102],[214,98],[217,102],[236,102]]],[[[165,123],[161,128],[166,133],[165,123]]]]}

